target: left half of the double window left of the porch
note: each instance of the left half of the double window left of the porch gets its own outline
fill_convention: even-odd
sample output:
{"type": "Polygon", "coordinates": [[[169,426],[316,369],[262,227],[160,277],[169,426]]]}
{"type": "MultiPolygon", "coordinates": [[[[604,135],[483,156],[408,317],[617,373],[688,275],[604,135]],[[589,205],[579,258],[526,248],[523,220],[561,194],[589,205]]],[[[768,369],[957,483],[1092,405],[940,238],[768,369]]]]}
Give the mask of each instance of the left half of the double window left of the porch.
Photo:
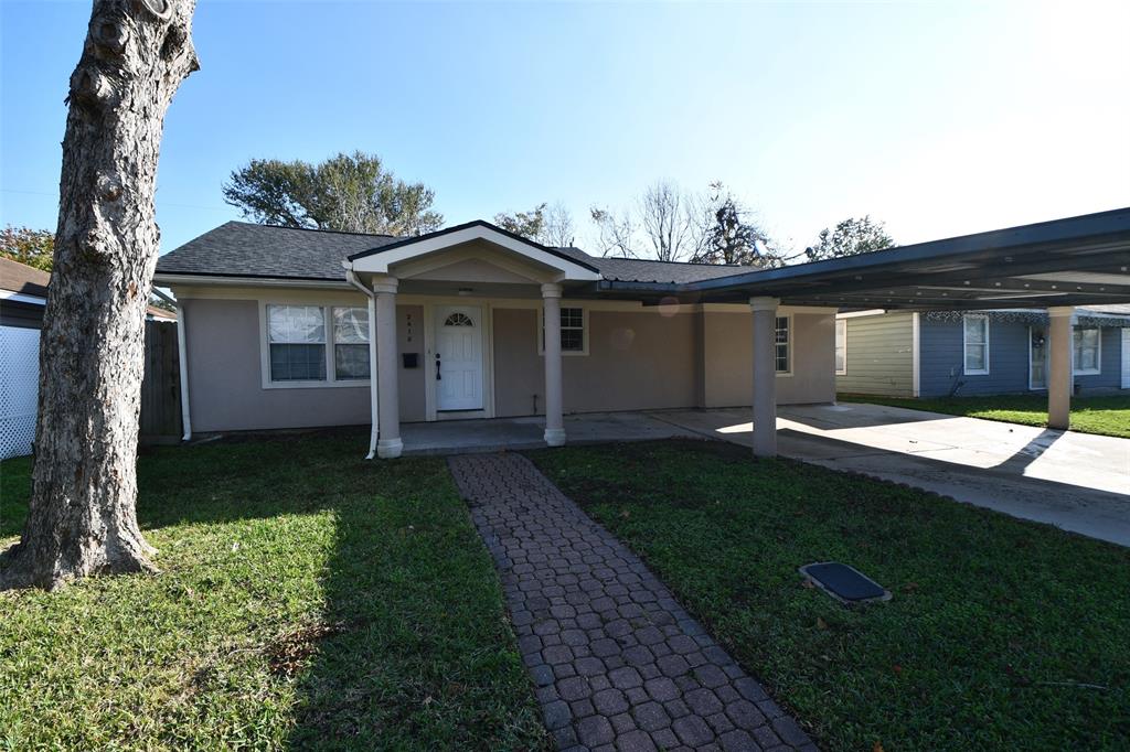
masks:
{"type": "Polygon", "coordinates": [[[325,381],[325,313],[321,306],[267,306],[272,382],[325,381]]]}

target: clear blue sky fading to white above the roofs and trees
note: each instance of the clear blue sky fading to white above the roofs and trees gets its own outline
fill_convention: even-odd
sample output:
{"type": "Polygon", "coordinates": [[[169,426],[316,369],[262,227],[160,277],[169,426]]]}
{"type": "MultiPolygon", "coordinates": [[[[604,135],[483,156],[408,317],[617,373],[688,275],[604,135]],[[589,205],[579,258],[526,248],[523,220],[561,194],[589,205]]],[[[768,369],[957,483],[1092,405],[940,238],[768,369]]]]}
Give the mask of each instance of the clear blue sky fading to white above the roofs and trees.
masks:
{"type": "MultiPolygon", "coordinates": [[[[54,228],[89,3],[0,0],[0,222],[54,228]]],[[[803,246],[852,215],[901,243],[1130,206],[1130,3],[200,2],[165,122],[163,248],[238,212],[252,157],[362,149],[449,224],[658,178],[729,184],[803,246]]]]}

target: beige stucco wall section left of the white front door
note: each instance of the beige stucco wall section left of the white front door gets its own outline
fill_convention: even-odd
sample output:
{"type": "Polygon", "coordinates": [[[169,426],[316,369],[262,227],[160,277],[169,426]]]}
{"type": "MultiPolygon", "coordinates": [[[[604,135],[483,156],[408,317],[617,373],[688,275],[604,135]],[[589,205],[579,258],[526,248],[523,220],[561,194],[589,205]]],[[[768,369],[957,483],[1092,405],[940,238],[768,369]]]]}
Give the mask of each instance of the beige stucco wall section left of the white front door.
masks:
{"type": "MultiPolygon", "coordinates": [[[[181,300],[194,432],[368,425],[368,385],[263,388],[258,300],[181,300]]],[[[400,368],[400,417],[424,420],[421,306],[397,309],[400,351],[418,347],[420,368],[400,368]],[[408,341],[408,317],[412,341],[408,341]]]]}

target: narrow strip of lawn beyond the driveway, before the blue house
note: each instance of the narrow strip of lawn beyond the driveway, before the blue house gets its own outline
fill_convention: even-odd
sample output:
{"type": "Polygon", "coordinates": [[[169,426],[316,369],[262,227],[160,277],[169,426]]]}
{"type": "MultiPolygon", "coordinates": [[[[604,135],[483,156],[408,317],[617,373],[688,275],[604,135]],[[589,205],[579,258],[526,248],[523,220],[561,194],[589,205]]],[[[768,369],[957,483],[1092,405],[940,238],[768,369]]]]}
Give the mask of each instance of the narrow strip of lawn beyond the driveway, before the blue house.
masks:
{"type": "MultiPolygon", "coordinates": [[[[1048,425],[1048,397],[1043,394],[1000,394],[937,399],[884,397],[871,394],[838,394],[841,402],[870,402],[895,408],[928,410],[947,416],[1002,420],[1025,426],[1048,425]]],[[[1130,438],[1130,394],[1072,397],[1071,430],[1130,438]]]]}

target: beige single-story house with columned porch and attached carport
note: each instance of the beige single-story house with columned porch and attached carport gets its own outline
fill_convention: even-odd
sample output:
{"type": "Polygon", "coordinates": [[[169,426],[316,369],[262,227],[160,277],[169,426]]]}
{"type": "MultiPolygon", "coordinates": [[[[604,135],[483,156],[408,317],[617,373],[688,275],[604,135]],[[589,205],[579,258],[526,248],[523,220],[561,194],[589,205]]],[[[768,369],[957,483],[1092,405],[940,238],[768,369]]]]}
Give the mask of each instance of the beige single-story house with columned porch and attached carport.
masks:
{"type": "Polygon", "coordinates": [[[768,456],[779,403],[835,399],[836,314],[877,307],[1046,309],[1067,428],[1074,307],[1130,303],[1128,268],[1130,209],[773,270],[594,257],[485,221],[227,222],[156,283],[179,300],[185,438],[368,423],[370,456],[395,457],[401,422],[538,416],[559,446],[566,413],[750,405],[768,456]]]}

